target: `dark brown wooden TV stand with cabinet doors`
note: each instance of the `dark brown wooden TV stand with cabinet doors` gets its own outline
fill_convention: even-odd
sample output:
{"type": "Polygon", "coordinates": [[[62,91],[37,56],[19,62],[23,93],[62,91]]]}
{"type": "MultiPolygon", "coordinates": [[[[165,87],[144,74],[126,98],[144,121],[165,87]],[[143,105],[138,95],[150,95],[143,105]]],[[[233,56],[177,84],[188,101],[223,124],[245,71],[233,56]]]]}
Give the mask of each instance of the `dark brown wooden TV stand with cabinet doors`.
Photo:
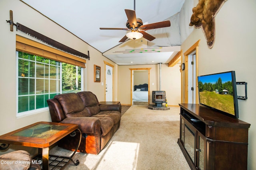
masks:
{"type": "Polygon", "coordinates": [[[247,170],[249,123],[200,104],[179,105],[178,145],[192,170],[247,170]]]}

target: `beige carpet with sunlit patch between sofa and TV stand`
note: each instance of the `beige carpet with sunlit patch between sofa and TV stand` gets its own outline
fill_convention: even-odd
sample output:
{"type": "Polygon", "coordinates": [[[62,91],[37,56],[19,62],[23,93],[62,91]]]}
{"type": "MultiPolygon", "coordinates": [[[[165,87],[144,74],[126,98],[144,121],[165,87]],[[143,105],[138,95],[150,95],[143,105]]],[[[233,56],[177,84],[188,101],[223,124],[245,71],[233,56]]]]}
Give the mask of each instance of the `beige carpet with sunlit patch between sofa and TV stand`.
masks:
{"type": "MultiPolygon", "coordinates": [[[[131,106],[121,117],[120,128],[98,154],[76,153],[65,169],[83,170],[190,170],[180,147],[180,107],[152,110],[148,106],[131,106]]],[[[54,147],[53,154],[72,152],[54,147]]]]}

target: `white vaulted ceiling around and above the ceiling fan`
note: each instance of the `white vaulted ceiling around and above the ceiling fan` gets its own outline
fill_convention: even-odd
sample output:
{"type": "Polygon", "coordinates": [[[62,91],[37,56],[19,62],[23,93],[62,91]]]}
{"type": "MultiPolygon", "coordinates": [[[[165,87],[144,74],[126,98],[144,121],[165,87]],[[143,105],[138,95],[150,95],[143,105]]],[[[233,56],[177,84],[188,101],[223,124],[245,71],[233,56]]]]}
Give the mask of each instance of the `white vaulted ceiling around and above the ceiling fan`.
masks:
{"type": "MultiPolygon", "coordinates": [[[[126,28],[127,16],[124,9],[134,10],[134,0],[22,0],[46,17],[58,23],[116,64],[152,64],[168,63],[179,48],[158,47],[148,51],[142,38],[119,43],[128,31],[100,30],[100,27],[126,28]],[[78,26],[79,25],[79,26],[78,26]],[[124,46],[124,44],[129,44],[124,46]],[[142,45],[147,53],[121,53],[129,49],[138,49],[142,45]],[[138,46],[137,46],[138,45],[138,46]],[[120,48],[120,46],[123,46],[120,48]],[[111,49],[111,50],[110,50],[111,49]],[[110,52],[110,51],[111,52],[110,52]],[[173,53],[174,51],[174,53],[173,53]],[[133,62],[133,63],[131,63],[133,62]]],[[[185,0],[137,0],[136,17],[144,24],[164,21],[180,12],[185,0]]],[[[172,23],[171,23],[172,27],[172,23]]],[[[152,34],[154,36],[154,34],[152,34]]],[[[151,41],[154,43],[154,40],[151,41]]],[[[157,42],[157,41],[156,41],[157,42]]],[[[141,48],[140,48],[141,49],[141,48]]],[[[152,48],[150,48],[152,49],[152,48]]]]}

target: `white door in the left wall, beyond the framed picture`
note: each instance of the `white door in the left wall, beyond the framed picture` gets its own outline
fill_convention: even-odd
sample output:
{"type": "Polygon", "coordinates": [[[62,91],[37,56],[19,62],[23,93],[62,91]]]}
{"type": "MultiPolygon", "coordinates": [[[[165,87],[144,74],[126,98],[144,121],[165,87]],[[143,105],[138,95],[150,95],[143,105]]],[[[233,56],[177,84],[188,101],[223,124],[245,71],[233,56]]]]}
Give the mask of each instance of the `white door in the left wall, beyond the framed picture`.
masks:
{"type": "Polygon", "coordinates": [[[113,101],[113,67],[106,64],[106,102],[113,101]]]}

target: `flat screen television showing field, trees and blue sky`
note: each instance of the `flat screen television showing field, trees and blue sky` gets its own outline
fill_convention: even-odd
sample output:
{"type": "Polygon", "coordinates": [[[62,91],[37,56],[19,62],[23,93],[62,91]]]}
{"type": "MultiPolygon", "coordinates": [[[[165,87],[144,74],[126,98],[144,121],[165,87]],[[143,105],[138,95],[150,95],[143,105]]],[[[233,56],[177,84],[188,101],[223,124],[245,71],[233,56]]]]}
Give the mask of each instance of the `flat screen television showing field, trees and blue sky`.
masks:
{"type": "Polygon", "coordinates": [[[235,71],[198,76],[199,103],[238,118],[235,71]]]}

